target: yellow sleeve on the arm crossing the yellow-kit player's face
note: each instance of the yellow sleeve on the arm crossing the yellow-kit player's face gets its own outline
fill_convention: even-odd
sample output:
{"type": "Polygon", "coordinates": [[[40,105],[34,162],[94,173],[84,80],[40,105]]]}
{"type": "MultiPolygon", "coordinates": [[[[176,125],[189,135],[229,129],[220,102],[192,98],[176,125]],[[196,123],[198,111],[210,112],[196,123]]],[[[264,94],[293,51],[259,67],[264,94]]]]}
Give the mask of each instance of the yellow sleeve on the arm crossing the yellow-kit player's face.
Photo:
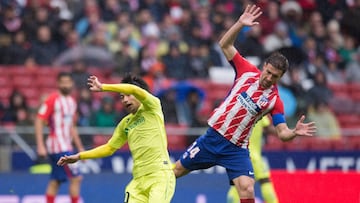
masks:
{"type": "Polygon", "coordinates": [[[150,93],[146,90],[132,84],[103,84],[103,91],[118,92],[127,95],[134,95],[141,103],[148,97],[150,93]]]}

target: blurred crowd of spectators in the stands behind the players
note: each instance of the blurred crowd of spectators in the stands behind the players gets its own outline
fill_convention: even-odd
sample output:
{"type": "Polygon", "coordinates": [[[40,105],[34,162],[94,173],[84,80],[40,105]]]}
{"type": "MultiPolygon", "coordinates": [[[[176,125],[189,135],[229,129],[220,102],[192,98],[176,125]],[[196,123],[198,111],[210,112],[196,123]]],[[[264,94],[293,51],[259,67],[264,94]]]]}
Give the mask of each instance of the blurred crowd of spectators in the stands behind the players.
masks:
{"type": "Polygon", "coordinates": [[[341,127],[360,118],[359,0],[1,0],[0,85],[17,75],[47,81],[31,100],[21,85],[7,94],[0,88],[1,121],[31,125],[48,92],[39,87],[56,89],[50,73],[69,70],[80,126],[116,125],[124,115],[117,96],[91,94],[86,78],[118,82],[126,72],[149,83],[167,123],[206,126],[230,88],[209,83],[212,67],[229,68],[218,39],[254,3],[263,10],[260,24],[245,28],[236,47],[259,68],[274,51],[286,55],[291,67],[280,85],[285,106],[295,106],[289,122],[306,113],[319,135],[340,137],[341,127]]]}

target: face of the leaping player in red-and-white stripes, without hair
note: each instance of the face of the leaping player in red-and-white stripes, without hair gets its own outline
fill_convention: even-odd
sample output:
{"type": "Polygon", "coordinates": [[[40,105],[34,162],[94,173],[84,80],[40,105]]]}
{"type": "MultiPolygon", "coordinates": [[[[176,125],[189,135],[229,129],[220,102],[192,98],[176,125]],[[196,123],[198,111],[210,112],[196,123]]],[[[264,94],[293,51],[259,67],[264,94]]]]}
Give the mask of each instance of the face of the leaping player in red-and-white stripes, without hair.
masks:
{"type": "Polygon", "coordinates": [[[266,63],[264,64],[263,71],[260,76],[260,85],[265,89],[270,88],[280,80],[282,75],[283,71],[275,68],[269,63],[266,63]]]}

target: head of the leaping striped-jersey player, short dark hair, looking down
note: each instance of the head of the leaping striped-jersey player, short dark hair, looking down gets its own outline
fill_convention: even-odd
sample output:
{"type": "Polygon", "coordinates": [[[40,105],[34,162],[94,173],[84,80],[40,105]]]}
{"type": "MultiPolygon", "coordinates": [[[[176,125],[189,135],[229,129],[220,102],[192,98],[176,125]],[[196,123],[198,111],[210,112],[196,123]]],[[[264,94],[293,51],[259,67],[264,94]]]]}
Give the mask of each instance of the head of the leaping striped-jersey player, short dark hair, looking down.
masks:
{"type": "Polygon", "coordinates": [[[277,83],[289,68],[286,57],[279,52],[271,54],[264,63],[260,76],[260,85],[263,88],[270,88],[277,83]]]}

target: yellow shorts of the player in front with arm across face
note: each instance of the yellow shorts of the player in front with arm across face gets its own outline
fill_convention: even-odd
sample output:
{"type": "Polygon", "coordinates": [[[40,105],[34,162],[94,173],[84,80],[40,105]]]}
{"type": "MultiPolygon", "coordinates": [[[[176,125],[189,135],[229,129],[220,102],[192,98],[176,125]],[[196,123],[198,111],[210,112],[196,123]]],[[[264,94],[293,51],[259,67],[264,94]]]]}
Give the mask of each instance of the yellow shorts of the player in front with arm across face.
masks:
{"type": "Polygon", "coordinates": [[[126,186],[124,203],[170,203],[175,184],[172,170],[159,170],[134,178],[126,186]]]}

